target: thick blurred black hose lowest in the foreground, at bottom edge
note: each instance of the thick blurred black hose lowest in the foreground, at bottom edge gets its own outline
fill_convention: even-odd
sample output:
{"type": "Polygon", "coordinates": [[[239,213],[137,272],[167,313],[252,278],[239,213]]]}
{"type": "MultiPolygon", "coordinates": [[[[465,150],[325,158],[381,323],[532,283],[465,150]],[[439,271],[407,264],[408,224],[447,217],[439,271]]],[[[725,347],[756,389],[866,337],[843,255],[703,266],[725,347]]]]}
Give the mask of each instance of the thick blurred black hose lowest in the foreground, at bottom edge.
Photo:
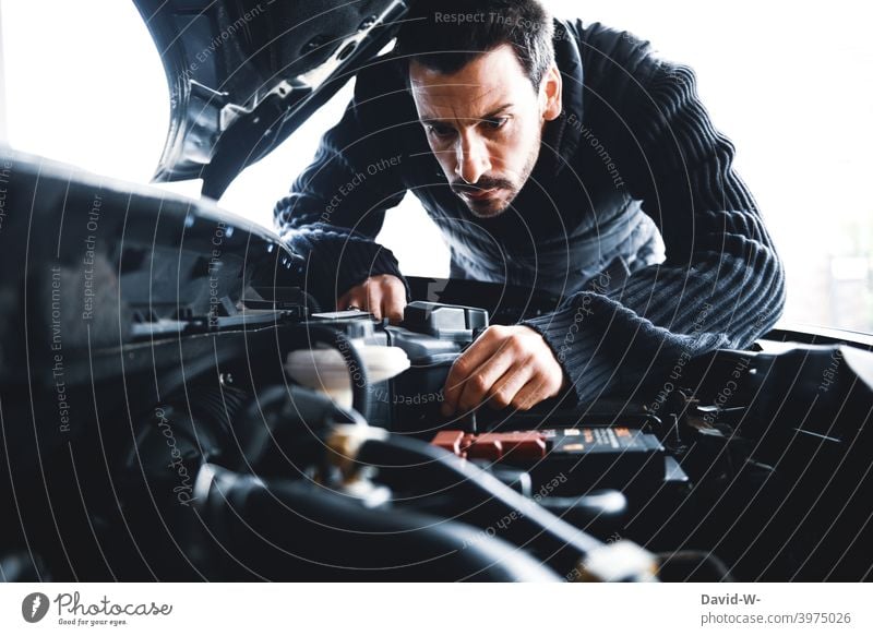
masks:
{"type": "Polygon", "coordinates": [[[222,579],[560,580],[529,554],[474,527],[369,508],[310,482],[263,480],[204,465],[195,501],[229,556],[220,572],[211,573],[222,579]]]}

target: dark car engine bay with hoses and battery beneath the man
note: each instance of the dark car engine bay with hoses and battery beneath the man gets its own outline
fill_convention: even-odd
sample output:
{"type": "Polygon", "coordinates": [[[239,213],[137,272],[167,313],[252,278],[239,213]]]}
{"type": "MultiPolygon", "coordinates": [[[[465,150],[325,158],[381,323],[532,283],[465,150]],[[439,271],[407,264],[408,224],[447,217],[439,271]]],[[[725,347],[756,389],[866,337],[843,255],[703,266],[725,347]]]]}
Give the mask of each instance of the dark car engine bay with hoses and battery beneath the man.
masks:
{"type": "Polygon", "coordinates": [[[400,325],[325,311],[208,202],[11,166],[9,579],[870,578],[870,344],[773,332],[445,418],[465,347],[558,300],[414,278],[400,325]]]}

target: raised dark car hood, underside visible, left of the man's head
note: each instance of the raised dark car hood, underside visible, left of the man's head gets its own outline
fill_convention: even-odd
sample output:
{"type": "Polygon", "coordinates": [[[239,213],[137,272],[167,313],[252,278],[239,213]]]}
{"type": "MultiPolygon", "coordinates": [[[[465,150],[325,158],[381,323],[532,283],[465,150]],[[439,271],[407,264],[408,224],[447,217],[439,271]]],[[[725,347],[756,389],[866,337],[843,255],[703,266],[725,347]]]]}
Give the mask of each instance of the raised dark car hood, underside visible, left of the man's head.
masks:
{"type": "Polygon", "coordinates": [[[134,0],[170,89],[155,181],[218,199],[388,43],[403,0],[134,0]]]}

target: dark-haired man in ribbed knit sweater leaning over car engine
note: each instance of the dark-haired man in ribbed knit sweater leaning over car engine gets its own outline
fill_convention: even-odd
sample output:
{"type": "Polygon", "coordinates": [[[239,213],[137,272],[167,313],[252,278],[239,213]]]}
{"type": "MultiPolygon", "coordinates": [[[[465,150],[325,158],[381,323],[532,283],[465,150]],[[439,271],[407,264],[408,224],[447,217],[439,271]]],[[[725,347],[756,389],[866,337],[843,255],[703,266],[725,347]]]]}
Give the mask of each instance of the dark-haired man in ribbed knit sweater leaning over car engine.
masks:
{"type": "Polygon", "coordinates": [[[778,319],[781,264],[733,153],[692,70],[647,41],[535,0],[420,0],[276,223],[311,256],[310,281],[335,284],[324,298],[397,321],[407,290],[373,239],[414,192],[453,278],[565,297],[485,332],[452,368],[444,413],[527,409],[570,386],[587,400],[655,369],[678,382],[691,357],[778,319]]]}

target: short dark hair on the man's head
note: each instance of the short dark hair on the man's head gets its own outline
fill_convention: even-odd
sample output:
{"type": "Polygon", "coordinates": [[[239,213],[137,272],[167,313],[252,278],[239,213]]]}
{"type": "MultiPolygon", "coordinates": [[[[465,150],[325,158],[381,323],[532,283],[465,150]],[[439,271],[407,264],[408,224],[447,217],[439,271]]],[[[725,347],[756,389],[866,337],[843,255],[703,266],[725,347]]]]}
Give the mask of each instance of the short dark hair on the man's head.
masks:
{"type": "Polygon", "coordinates": [[[553,33],[551,15],[537,0],[416,0],[395,55],[407,77],[411,60],[450,74],[509,44],[538,89],[554,61],[553,33]]]}

